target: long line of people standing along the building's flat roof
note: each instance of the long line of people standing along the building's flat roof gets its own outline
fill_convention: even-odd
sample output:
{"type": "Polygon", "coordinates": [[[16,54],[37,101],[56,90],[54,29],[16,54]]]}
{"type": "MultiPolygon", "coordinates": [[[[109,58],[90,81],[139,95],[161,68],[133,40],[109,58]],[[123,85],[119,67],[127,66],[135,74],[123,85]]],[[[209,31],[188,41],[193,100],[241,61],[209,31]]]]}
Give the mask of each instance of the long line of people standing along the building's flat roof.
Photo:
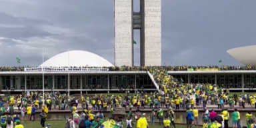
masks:
{"type": "MultiPolygon", "coordinates": [[[[20,67],[20,66],[14,66],[14,67],[0,67],[0,71],[24,71],[25,68],[40,68],[40,67],[20,67]]],[[[47,68],[47,67],[44,67],[47,68]]],[[[62,68],[68,68],[67,66],[63,67],[51,67],[55,69],[62,69],[62,68]]],[[[108,71],[149,71],[152,68],[157,69],[165,69],[167,71],[200,71],[202,69],[215,69],[219,71],[229,71],[229,70],[256,70],[256,66],[232,66],[232,65],[223,65],[223,66],[121,66],[121,67],[87,67],[87,66],[81,66],[81,67],[70,67],[70,68],[88,68],[88,69],[108,69],[108,71]]]]}

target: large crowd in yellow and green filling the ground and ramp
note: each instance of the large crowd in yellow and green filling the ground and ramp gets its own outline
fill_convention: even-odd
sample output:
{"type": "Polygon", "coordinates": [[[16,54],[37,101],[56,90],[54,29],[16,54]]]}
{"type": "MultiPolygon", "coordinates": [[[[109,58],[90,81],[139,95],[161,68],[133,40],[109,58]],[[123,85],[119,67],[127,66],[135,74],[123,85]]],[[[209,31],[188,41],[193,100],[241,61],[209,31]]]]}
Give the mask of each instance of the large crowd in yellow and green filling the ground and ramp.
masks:
{"type": "MultiPolygon", "coordinates": [[[[169,77],[165,75],[164,71],[159,71],[158,69],[153,69],[151,72],[155,74],[154,76],[163,75],[164,77],[169,77]]],[[[175,127],[173,109],[180,109],[181,107],[187,109],[187,127],[192,127],[193,124],[198,125],[198,109],[201,107],[205,109],[205,113],[203,114],[203,128],[208,128],[208,126],[210,126],[210,128],[215,128],[216,126],[217,128],[228,128],[229,120],[232,121],[234,128],[241,128],[238,109],[245,108],[245,103],[251,105],[251,109],[256,109],[256,95],[254,94],[229,95],[228,90],[224,92],[221,87],[216,87],[215,85],[197,85],[194,87],[186,84],[182,85],[182,82],[169,83],[170,79],[171,77],[165,80],[159,79],[158,81],[158,83],[163,84],[161,86],[165,92],[164,95],[160,95],[157,92],[145,93],[143,91],[137,94],[130,94],[127,91],[117,96],[102,94],[81,95],[79,98],[68,97],[67,93],[61,94],[53,91],[44,94],[41,92],[30,92],[29,95],[9,95],[7,99],[0,100],[0,118],[1,121],[3,120],[3,124],[6,122],[6,126],[9,126],[7,117],[11,117],[11,124],[13,125],[25,121],[25,119],[27,119],[27,121],[34,121],[35,111],[39,109],[41,110],[40,124],[41,127],[45,127],[47,113],[51,111],[52,107],[57,107],[57,109],[60,110],[65,110],[69,107],[71,117],[69,117],[67,121],[69,123],[67,123],[67,125],[71,127],[79,127],[79,125],[88,127],[92,125],[95,127],[97,125],[108,125],[110,122],[122,125],[121,119],[125,118],[123,115],[126,115],[125,110],[128,109],[127,124],[131,126],[133,120],[137,121],[137,125],[143,123],[143,127],[148,125],[147,121],[151,121],[151,125],[154,125],[155,118],[157,118],[159,119],[159,125],[163,125],[164,127],[173,125],[173,127],[175,127]],[[176,85],[171,86],[171,84],[176,85]],[[193,98],[192,95],[195,95],[195,98],[193,98]],[[45,99],[44,103],[43,99],[45,99]],[[9,103],[9,107],[5,108],[3,103],[9,103]],[[81,115],[77,113],[77,105],[80,103],[83,108],[81,115]],[[236,104],[239,104],[238,109],[235,108],[236,104]],[[209,112],[207,105],[218,105],[217,109],[223,109],[224,111],[216,113],[214,110],[211,110],[211,112],[209,112]],[[230,109],[234,109],[234,112],[230,113],[228,109],[223,107],[224,105],[229,105],[230,109]],[[14,111],[14,106],[18,107],[18,111],[21,111],[21,117],[14,111]],[[146,116],[145,113],[141,113],[141,109],[151,109],[152,111],[149,116],[146,116]],[[166,115],[164,115],[163,109],[167,109],[168,112],[166,115]],[[94,113],[95,110],[98,110],[99,113],[94,113]],[[107,110],[110,110],[111,115],[113,115],[111,119],[106,119],[104,116],[107,110]],[[25,115],[25,113],[27,114],[25,115]],[[230,117],[229,114],[231,115],[230,117]],[[219,118],[218,115],[221,118],[219,118]]],[[[255,125],[253,115],[251,115],[250,112],[247,112],[246,122],[247,127],[251,127],[252,124],[255,125]]],[[[141,128],[143,127],[141,126],[141,128]]]]}

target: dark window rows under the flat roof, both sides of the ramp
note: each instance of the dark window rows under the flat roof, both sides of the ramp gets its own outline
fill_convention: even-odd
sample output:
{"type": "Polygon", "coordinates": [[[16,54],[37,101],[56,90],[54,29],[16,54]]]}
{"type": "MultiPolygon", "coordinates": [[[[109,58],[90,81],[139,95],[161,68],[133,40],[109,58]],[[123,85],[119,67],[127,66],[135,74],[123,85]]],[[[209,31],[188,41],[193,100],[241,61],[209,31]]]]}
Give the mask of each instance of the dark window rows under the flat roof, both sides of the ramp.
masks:
{"type": "MultiPolygon", "coordinates": [[[[212,83],[217,85],[225,85],[229,87],[241,87],[242,75],[173,75],[179,81],[184,81],[184,83],[212,83]]],[[[82,79],[80,75],[71,75],[70,83],[68,82],[67,75],[55,75],[54,85],[55,89],[66,89],[67,85],[70,84],[71,88],[80,88],[81,82],[83,88],[90,87],[91,85],[97,85],[101,88],[107,88],[108,84],[111,87],[127,87],[127,85],[143,85],[151,87],[153,85],[150,77],[148,75],[109,75],[109,83],[107,75],[83,75],[82,79]]],[[[25,82],[25,76],[21,76],[19,80],[15,76],[1,76],[1,81],[3,89],[8,87],[15,87],[16,89],[21,89],[25,87],[27,89],[41,89],[43,84],[45,87],[51,89],[53,87],[53,76],[27,76],[25,82]]],[[[245,88],[254,86],[256,83],[256,75],[246,74],[243,76],[243,81],[245,88]]]]}

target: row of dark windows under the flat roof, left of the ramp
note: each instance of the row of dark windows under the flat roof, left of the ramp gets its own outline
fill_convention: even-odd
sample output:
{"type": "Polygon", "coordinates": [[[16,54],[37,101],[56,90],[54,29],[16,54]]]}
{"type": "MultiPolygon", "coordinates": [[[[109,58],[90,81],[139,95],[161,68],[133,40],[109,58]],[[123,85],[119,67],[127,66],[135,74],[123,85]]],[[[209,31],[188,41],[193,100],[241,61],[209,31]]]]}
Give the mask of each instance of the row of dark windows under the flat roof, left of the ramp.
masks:
{"type": "MultiPolygon", "coordinates": [[[[42,89],[43,85],[45,89],[51,89],[53,87],[53,76],[44,76],[44,80],[42,76],[27,76],[26,82],[25,77],[21,76],[20,85],[19,82],[15,83],[15,78],[11,77],[11,79],[7,79],[7,77],[2,76],[2,85],[3,89],[23,89],[25,88],[25,84],[27,89],[42,89]]],[[[148,75],[137,75],[135,79],[135,75],[109,75],[109,83],[107,75],[95,75],[95,76],[67,76],[67,75],[57,75],[54,77],[54,86],[55,89],[67,89],[68,85],[70,85],[71,89],[80,89],[80,85],[82,82],[83,89],[87,89],[90,87],[97,87],[101,89],[107,88],[108,84],[111,87],[127,87],[128,85],[143,85],[145,87],[151,87],[152,81],[148,75]],[[70,81],[68,81],[70,79],[70,81]]]]}

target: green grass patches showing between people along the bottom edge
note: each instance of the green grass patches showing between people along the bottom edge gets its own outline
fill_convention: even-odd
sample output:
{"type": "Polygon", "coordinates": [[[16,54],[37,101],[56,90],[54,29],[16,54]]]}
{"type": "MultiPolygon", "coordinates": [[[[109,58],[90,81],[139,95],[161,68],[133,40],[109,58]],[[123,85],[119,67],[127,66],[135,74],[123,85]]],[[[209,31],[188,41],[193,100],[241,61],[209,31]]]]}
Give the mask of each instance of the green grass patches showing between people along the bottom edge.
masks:
{"type": "MultiPolygon", "coordinates": [[[[49,123],[49,125],[51,125],[51,128],[61,128],[61,127],[65,127],[65,122],[66,121],[46,121],[45,125],[47,125],[49,123]]],[[[125,121],[124,121],[125,122],[125,121]]],[[[40,125],[40,121],[31,121],[29,123],[24,122],[21,123],[25,128],[41,128],[40,125]]],[[[186,128],[186,125],[175,125],[177,128],[186,128]]],[[[46,126],[45,126],[46,127],[46,126]]],[[[123,127],[126,127],[126,123],[123,124],[123,127]]],[[[155,123],[155,125],[151,125],[149,123],[149,127],[163,127],[163,125],[159,125],[158,123],[155,123]]],[[[173,127],[173,126],[171,126],[173,127]]],[[[199,127],[193,127],[193,128],[201,128],[201,126],[199,127]]]]}

